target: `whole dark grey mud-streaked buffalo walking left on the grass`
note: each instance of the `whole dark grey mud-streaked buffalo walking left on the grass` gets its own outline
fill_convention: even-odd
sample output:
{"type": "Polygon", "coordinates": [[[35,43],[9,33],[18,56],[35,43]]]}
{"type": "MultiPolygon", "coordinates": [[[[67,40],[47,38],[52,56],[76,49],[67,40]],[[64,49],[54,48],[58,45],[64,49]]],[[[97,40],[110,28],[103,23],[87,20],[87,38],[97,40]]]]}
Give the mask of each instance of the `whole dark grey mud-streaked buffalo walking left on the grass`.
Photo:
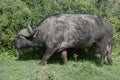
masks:
{"type": "Polygon", "coordinates": [[[15,42],[16,49],[46,46],[41,65],[45,65],[50,56],[61,52],[63,62],[67,63],[68,48],[82,48],[87,51],[93,44],[100,48],[100,63],[105,57],[112,64],[111,39],[113,29],[110,23],[96,15],[57,14],[44,19],[37,27],[22,29],[15,42]]]}

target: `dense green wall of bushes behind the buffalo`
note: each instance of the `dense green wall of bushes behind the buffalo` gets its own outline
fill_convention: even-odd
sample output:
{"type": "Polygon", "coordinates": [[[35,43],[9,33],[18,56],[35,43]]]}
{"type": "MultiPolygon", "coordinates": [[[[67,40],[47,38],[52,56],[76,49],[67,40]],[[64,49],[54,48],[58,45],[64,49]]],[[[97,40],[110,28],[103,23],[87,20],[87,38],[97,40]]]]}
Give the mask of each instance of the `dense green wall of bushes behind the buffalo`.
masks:
{"type": "MultiPolygon", "coordinates": [[[[0,55],[7,53],[18,57],[19,54],[41,53],[41,50],[38,52],[34,49],[18,52],[12,45],[19,30],[26,28],[27,23],[31,22],[34,27],[46,16],[56,13],[95,14],[104,17],[114,28],[113,53],[120,54],[119,0],[1,0],[0,55]]],[[[92,52],[95,53],[95,50],[90,53],[92,52]]]]}

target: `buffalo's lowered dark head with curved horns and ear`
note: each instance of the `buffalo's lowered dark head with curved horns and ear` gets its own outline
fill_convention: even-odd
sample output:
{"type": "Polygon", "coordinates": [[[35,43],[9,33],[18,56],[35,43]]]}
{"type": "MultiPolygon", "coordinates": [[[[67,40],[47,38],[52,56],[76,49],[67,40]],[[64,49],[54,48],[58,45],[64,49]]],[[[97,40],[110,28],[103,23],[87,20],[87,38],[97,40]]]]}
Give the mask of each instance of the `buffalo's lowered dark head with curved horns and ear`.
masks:
{"type": "Polygon", "coordinates": [[[35,46],[35,38],[38,31],[34,31],[30,26],[26,29],[20,30],[18,38],[14,43],[15,49],[26,49],[35,46]]]}

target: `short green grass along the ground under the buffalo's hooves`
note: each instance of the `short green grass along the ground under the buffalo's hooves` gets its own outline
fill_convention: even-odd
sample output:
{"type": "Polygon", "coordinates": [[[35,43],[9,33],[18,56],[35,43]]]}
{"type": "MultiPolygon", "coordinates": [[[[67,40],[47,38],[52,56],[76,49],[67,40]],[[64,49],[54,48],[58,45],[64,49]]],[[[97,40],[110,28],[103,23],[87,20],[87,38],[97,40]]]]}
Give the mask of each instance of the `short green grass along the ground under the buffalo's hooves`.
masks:
{"type": "Polygon", "coordinates": [[[0,58],[0,80],[120,80],[120,56],[113,57],[113,65],[96,67],[89,60],[50,63],[38,66],[39,60],[6,60],[0,58]]]}

